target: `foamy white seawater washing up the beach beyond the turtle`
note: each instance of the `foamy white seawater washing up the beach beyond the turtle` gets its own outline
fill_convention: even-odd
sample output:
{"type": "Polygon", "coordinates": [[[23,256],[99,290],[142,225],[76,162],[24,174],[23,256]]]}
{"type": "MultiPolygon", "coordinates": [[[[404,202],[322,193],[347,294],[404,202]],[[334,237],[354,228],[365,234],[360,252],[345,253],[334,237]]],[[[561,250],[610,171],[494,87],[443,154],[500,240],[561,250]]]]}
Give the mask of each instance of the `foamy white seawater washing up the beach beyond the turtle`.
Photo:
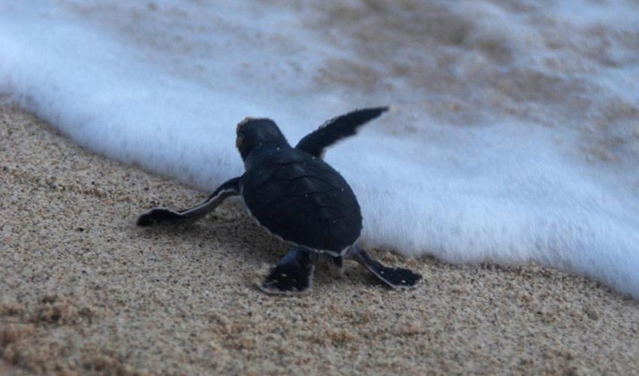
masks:
{"type": "Polygon", "coordinates": [[[247,115],[295,144],[393,104],[326,156],[367,245],[536,261],[639,298],[639,12],[576,3],[6,0],[0,91],[94,151],[208,191],[242,172],[247,115]]]}

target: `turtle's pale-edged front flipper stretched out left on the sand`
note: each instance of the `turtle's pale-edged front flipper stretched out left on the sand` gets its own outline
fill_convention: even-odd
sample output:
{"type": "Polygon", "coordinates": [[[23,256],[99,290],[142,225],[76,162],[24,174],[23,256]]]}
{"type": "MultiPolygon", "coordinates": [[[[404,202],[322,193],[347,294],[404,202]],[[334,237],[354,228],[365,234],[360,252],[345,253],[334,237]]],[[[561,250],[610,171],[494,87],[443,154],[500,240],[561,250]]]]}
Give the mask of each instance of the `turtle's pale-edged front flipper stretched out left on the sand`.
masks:
{"type": "Polygon", "coordinates": [[[194,221],[203,217],[218,207],[228,197],[240,194],[240,177],[234,177],[219,186],[206,201],[185,210],[170,210],[164,208],[155,208],[140,214],[137,217],[137,225],[150,226],[159,223],[183,223],[185,221],[194,221]]]}

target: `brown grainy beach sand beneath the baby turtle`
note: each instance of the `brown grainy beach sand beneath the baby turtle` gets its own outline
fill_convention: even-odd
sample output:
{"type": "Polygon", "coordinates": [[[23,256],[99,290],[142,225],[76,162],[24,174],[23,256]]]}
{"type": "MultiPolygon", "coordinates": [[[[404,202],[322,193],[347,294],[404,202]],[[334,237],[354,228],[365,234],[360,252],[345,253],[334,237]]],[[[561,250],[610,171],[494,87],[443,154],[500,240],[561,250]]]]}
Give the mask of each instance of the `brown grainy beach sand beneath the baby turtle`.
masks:
{"type": "MultiPolygon", "coordinates": [[[[636,373],[639,305],[542,267],[383,261],[425,276],[389,291],[359,265],[313,291],[262,294],[287,246],[229,201],[144,230],[153,206],[205,198],[0,109],[0,371],[8,373],[636,373]]],[[[0,372],[2,373],[2,372],[0,372]]]]}

